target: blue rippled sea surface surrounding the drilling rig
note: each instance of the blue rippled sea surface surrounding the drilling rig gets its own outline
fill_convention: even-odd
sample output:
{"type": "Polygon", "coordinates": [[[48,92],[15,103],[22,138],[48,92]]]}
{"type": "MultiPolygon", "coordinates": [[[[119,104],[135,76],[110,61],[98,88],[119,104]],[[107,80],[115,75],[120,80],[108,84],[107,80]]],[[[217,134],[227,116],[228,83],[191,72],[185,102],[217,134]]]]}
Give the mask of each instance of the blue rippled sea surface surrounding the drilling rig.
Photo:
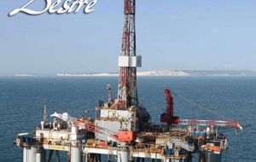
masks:
{"type": "MultiPolygon", "coordinates": [[[[256,78],[255,77],[139,77],[139,101],[148,108],[152,121],[159,123],[165,111],[165,87],[195,101],[216,114],[195,107],[174,96],[174,113],[181,119],[226,119],[246,124],[242,133],[223,130],[230,149],[223,161],[256,161],[256,78]]],[[[98,101],[108,100],[106,85],[117,94],[118,78],[0,78],[0,162],[22,161],[22,150],[13,145],[14,134],[32,132],[43,119],[43,103],[49,114],[67,112],[94,117],[98,101]],[[87,110],[89,113],[84,113],[87,110]]],[[[64,160],[64,159],[62,159],[64,160]]],[[[197,161],[194,159],[194,161],[197,161]]]]}

